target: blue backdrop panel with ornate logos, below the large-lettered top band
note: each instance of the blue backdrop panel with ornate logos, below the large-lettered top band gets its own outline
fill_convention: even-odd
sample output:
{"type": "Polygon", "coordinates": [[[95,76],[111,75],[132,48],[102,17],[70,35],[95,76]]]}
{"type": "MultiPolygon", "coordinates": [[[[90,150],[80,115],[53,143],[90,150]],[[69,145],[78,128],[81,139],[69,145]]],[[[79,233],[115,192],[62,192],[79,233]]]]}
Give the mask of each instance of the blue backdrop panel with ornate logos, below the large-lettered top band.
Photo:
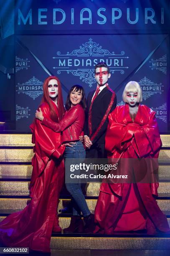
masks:
{"type": "Polygon", "coordinates": [[[123,104],[124,85],[139,82],[143,104],[156,111],[160,131],[167,132],[168,45],[167,34],[16,36],[17,131],[29,131],[48,74],[61,80],[65,101],[73,84],[81,84],[86,95],[95,89],[94,66],[105,61],[118,105],[123,104]]]}

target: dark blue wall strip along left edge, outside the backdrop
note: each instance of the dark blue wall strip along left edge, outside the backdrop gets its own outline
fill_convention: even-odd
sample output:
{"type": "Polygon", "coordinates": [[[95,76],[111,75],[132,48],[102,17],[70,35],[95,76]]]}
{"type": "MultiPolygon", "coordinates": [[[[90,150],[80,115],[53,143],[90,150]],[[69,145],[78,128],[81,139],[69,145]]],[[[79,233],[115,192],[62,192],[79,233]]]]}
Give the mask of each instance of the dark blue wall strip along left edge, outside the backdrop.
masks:
{"type": "Polygon", "coordinates": [[[0,121],[15,129],[14,1],[0,0],[0,121]]]}

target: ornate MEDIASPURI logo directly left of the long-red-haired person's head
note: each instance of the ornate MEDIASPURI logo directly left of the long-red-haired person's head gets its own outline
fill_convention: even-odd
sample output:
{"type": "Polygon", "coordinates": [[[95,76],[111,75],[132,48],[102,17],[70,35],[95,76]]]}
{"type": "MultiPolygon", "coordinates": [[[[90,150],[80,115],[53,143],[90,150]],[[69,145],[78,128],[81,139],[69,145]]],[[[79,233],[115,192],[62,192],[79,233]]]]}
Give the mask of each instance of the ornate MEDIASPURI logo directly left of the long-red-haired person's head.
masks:
{"type": "Polygon", "coordinates": [[[21,92],[28,95],[35,100],[38,96],[43,94],[43,82],[39,81],[36,77],[29,79],[27,82],[16,85],[18,94],[21,92]]]}

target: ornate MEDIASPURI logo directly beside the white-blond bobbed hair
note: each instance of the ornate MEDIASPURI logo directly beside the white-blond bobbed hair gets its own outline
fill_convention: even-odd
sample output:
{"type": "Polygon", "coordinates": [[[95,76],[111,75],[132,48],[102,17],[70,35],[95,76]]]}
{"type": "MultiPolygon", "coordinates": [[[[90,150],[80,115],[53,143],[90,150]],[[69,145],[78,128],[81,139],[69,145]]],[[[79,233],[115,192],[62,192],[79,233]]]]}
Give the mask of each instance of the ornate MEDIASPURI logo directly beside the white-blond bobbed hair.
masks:
{"type": "Polygon", "coordinates": [[[151,95],[154,94],[162,94],[163,92],[163,85],[162,83],[155,83],[151,82],[150,79],[144,77],[139,82],[140,86],[142,87],[142,98],[143,100],[147,100],[151,95]]]}

